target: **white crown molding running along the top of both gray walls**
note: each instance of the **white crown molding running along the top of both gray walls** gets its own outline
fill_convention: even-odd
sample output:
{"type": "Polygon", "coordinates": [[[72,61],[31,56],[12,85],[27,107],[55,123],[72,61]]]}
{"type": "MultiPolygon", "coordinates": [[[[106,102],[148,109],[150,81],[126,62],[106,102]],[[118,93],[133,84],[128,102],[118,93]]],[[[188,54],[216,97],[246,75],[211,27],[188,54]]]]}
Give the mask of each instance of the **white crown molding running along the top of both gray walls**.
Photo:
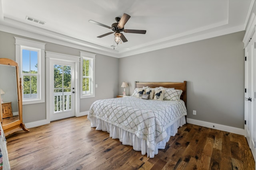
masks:
{"type": "Polygon", "coordinates": [[[162,39],[160,41],[153,41],[151,43],[143,44],[140,47],[126,49],[123,51],[106,48],[100,45],[89,43],[87,41],[82,41],[80,39],[68,37],[66,35],[55,33],[53,31],[48,31],[42,28],[35,27],[33,25],[28,25],[26,23],[21,23],[19,21],[11,20],[8,18],[4,18],[4,21],[0,20],[0,31],[24,37],[29,37],[40,41],[46,41],[49,43],[56,43],[59,45],[64,45],[67,47],[72,47],[83,51],[88,51],[90,53],[98,53],[110,57],[122,58],[131,55],[137,55],[141,53],[164,49],[168,47],[173,47],[185,43],[191,43],[194,41],[199,41],[212,37],[217,37],[238,31],[244,31],[244,25],[227,28],[227,24],[228,20],[224,20],[216,24],[194,29],[186,33],[181,33],[179,35],[166,37],[165,39],[162,39]]]}

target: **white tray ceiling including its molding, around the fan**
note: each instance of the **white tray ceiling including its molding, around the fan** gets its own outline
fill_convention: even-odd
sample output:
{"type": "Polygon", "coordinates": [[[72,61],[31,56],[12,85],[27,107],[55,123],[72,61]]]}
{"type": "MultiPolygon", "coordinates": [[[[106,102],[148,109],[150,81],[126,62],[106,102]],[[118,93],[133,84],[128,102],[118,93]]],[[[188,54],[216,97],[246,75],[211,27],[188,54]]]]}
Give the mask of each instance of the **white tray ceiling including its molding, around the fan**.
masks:
{"type": "Polygon", "coordinates": [[[119,58],[245,30],[253,5],[254,0],[0,0],[0,31],[119,58]],[[97,38],[112,30],[88,20],[111,26],[123,13],[131,16],[125,29],[147,32],[123,33],[128,42],[114,50],[114,34],[97,38]]]}

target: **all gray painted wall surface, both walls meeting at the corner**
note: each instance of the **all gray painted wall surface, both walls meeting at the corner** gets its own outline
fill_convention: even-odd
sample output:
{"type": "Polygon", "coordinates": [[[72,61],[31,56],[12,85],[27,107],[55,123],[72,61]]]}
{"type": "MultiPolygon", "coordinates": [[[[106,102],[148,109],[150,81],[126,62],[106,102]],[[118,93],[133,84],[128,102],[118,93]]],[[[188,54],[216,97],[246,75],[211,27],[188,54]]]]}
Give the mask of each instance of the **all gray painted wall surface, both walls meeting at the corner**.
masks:
{"type": "MultiPolygon", "coordinates": [[[[80,112],[92,102],[126,93],[134,81],[187,81],[188,118],[244,128],[244,31],[116,59],[96,54],[96,97],[80,100],[80,112]],[[145,69],[146,68],[146,69],[145,69]],[[196,110],[197,115],[192,115],[196,110]]],[[[0,31],[0,57],[15,61],[15,39],[0,31]]],[[[26,38],[26,37],[24,37],[26,38]]],[[[43,41],[42,41],[43,42],[43,41]]],[[[80,49],[46,43],[46,51],[80,56],[80,49]]],[[[47,75],[46,75],[47,76],[47,75]]],[[[46,118],[46,104],[23,106],[25,123],[46,118]]]]}

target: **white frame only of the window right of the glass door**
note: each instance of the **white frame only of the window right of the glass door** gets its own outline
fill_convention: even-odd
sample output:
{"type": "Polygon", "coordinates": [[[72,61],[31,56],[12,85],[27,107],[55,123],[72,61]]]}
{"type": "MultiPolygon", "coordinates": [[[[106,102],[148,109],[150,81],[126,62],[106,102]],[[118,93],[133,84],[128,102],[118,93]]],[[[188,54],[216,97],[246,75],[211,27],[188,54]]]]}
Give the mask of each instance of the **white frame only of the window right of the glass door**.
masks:
{"type": "Polygon", "coordinates": [[[80,51],[80,98],[95,97],[95,54],[80,51]],[[83,61],[90,61],[90,93],[83,92],[83,61]]]}

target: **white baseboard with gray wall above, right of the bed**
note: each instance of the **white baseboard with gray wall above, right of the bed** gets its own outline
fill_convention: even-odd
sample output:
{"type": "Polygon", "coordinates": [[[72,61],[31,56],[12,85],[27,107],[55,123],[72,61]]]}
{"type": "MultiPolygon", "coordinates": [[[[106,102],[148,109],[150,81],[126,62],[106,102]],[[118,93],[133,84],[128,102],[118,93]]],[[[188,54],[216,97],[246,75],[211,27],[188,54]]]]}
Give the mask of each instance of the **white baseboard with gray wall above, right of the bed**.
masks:
{"type": "Polygon", "coordinates": [[[240,129],[240,128],[237,128],[237,127],[220,125],[220,124],[216,124],[216,123],[210,123],[210,122],[206,122],[206,121],[200,121],[200,120],[189,119],[189,118],[187,118],[187,122],[191,123],[191,124],[194,124],[194,125],[209,127],[209,128],[212,128],[212,129],[218,129],[220,131],[236,133],[238,135],[243,135],[243,136],[245,135],[244,129],[240,129]]]}

